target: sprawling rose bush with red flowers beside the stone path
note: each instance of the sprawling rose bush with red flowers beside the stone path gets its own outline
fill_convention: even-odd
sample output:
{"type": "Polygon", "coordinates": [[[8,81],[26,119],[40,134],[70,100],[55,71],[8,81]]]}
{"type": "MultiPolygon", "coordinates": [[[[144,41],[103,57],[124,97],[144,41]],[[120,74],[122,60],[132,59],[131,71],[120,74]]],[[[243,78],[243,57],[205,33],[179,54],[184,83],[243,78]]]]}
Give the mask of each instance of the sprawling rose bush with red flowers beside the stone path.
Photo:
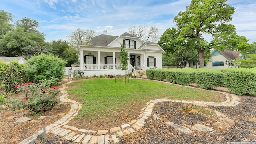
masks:
{"type": "Polygon", "coordinates": [[[22,92],[24,99],[10,100],[8,103],[13,104],[12,110],[25,109],[36,113],[52,110],[60,102],[60,90],[54,86],[50,88],[45,86],[43,82],[40,84],[29,82],[14,86],[18,92],[22,92]]]}

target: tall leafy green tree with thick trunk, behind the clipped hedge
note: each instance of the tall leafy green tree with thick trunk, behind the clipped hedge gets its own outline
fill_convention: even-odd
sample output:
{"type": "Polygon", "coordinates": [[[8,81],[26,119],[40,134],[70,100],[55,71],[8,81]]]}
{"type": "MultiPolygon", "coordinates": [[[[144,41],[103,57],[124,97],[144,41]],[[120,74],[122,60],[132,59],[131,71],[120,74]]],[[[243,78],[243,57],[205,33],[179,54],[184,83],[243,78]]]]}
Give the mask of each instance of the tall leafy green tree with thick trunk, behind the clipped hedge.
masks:
{"type": "Polygon", "coordinates": [[[179,12],[174,18],[180,34],[179,40],[194,39],[198,50],[200,68],[204,67],[204,51],[207,48],[223,49],[227,46],[235,50],[246,48],[245,37],[235,33],[236,28],[232,24],[226,24],[232,20],[234,7],[226,4],[227,0],[192,0],[186,7],[186,11],[179,12]],[[202,44],[202,34],[212,36],[211,46],[205,47],[202,44]]]}

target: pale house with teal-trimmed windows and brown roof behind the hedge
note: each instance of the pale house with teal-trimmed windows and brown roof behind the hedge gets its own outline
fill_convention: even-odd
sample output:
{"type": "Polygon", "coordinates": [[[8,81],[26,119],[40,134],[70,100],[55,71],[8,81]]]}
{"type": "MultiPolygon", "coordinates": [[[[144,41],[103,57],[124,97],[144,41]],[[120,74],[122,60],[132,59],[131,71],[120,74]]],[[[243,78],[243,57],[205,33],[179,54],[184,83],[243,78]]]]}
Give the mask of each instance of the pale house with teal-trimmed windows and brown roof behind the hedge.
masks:
{"type": "MultiPolygon", "coordinates": [[[[231,51],[231,50],[224,50],[224,51],[218,51],[214,50],[212,52],[211,61],[207,64],[204,64],[205,68],[210,69],[220,69],[220,68],[229,68],[233,67],[233,64],[231,62],[234,61],[235,58],[241,58],[242,60],[245,59],[244,55],[241,54],[238,51],[231,51]],[[230,62],[230,66],[228,65],[228,62],[230,62]]],[[[188,66],[189,68],[199,68],[199,65],[197,65],[195,62],[192,62],[188,66]]]]}

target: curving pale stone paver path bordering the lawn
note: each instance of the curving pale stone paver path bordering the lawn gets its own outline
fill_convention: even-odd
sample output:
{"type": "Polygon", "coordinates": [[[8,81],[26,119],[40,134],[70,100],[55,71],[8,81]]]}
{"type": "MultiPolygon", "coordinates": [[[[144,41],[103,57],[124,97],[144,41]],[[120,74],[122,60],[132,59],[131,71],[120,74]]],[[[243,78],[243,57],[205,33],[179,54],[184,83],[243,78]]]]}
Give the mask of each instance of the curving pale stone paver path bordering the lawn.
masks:
{"type": "MultiPolygon", "coordinates": [[[[66,83],[69,84],[72,81],[66,83]]],[[[238,96],[234,94],[229,94],[226,92],[220,92],[226,95],[226,101],[215,103],[215,102],[203,102],[203,101],[187,101],[187,100],[170,100],[167,98],[164,99],[155,99],[147,102],[146,106],[142,108],[140,112],[140,116],[136,120],[132,120],[131,122],[124,124],[122,126],[110,128],[109,130],[86,130],[76,128],[74,126],[69,126],[68,122],[72,120],[75,116],[78,115],[79,110],[82,108],[82,105],[74,100],[70,100],[67,98],[68,92],[64,89],[67,88],[66,84],[62,84],[62,88],[60,89],[63,95],[60,97],[62,102],[68,102],[71,105],[71,109],[63,116],[60,120],[54,122],[50,126],[46,126],[46,134],[52,133],[58,136],[61,136],[65,140],[71,140],[74,142],[81,142],[82,144],[110,144],[110,141],[113,143],[119,142],[119,138],[124,134],[132,134],[142,128],[146,123],[145,120],[148,119],[154,108],[154,104],[158,102],[182,102],[182,103],[191,103],[200,106],[236,106],[240,104],[240,99],[238,96]]],[[[216,91],[218,92],[218,91],[216,91]]],[[[217,116],[225,117],[219,112],[216,111],[217,116]]],[[[155,120],[158,119],[157,117],[155,120]]],[[[171,122],[167,122],[166,124],[172,125],[171,122]]],[[[38,131],[36,134],[26,138],[20,144],[34,144],[38,141],[39,138],[43,136],[43,130],[38,131]]]]}

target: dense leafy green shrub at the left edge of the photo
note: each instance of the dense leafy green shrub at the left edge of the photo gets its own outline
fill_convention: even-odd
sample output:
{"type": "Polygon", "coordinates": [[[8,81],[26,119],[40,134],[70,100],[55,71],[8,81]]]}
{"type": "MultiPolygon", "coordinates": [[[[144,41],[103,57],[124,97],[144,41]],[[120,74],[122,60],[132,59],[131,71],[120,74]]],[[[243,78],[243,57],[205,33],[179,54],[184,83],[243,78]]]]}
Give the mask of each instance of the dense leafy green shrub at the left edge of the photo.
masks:
{"type": "Polygon", "coordinates": [[[2,90],[13,92],[15,90],[14,85],[27,82],[28,77],[25,74],[25,70],[25,66],[16,61],[4,64],[4,62],[0,60],[0,82],[5,80],[2,90]]]}

